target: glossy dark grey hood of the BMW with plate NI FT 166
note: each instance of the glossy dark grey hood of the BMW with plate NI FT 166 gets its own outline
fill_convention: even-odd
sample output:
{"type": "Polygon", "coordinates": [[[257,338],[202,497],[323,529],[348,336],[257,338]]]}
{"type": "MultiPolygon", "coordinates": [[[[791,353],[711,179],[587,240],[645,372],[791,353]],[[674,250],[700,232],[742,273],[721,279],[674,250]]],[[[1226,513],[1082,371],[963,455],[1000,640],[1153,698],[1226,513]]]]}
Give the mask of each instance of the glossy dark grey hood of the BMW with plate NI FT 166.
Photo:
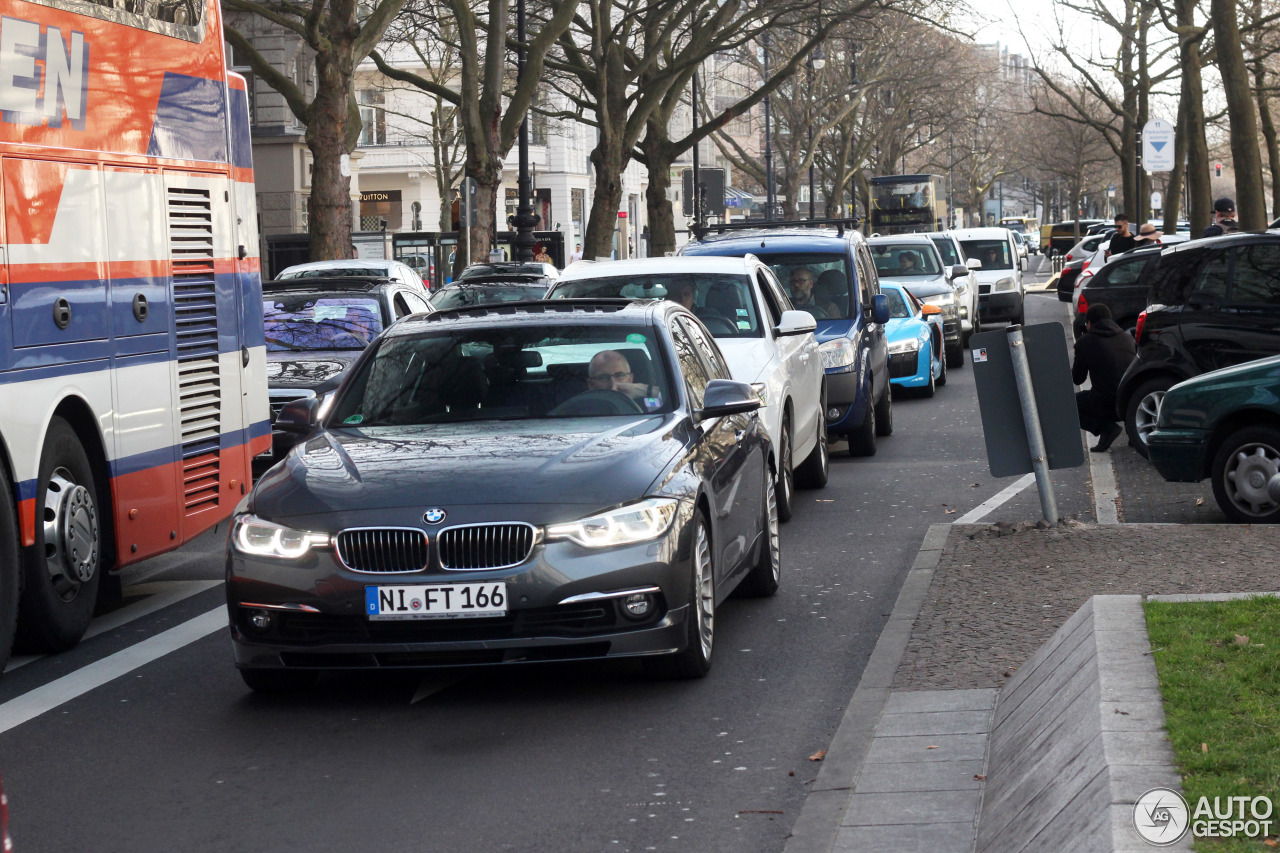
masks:
{"type": "Polygon", "coordinates": [[[682,418],[324,430],[259,482],[252,511],[287,519],[403,506],[626,503],[644,497],[684,448],[682,418]]]}

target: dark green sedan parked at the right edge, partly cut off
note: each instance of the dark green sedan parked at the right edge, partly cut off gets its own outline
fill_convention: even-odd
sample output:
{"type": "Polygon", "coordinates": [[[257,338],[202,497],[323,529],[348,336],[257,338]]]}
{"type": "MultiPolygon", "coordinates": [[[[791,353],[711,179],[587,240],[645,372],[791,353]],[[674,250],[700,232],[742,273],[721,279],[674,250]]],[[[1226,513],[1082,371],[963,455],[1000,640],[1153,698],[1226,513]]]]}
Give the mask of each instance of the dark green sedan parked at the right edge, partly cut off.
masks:
{"type": "Polygon", "coordinates": [[[1148,438],[1166,480],[1213,482],[1233,521],[1280,521],[1280,356],[1206,373],[1169,389],[1148,438]],[[1272,497],[1275,494],[1275,497],[1272,497]]]}

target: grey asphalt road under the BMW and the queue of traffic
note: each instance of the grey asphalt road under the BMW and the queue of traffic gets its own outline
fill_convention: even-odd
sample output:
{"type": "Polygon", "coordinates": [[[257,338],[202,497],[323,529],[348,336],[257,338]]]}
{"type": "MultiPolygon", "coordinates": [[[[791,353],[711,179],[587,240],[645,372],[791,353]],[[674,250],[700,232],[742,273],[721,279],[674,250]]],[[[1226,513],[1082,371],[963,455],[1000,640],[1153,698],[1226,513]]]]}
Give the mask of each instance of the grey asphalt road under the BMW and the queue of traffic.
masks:
{"type": "MultiPolygon", "coordinates": [[[[1061,316],[1029,296],[1029,323],[1061,316]]],[[[224,634],[224,532],[143,564],[97,635],[0,679],[17,849],[781,850],[928,525],[1012,482],[968,364],[895,426],[799,493],[780,593],[719,611],[700,681],[611,663],[260,697],[224,634]]],[[[1064,515],[1091,517],[1083,469],[1061,474],[1064,515]]],[[[989,520],[1037,517],[1030,488],[989,520]]]]}

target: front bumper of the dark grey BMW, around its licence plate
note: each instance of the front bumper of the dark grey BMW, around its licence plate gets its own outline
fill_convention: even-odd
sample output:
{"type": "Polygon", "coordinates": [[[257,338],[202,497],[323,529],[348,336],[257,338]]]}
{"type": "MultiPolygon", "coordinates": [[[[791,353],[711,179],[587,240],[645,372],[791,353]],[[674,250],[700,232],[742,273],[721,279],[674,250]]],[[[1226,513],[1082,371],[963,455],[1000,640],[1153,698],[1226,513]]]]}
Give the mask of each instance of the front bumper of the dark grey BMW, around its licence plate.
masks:
{"type": "Polygon", "coordinates": [[[445,571],[433,558],[426,571],[364,574],[342,566],[332,549],[300,561],[230,551],[227,606],[236,665],[431,669],[682,651],[692,571],[684,539],[691,538],[691,511],[682,506],[672,529],[650,542],[602,549],[539,542],[521,565],[494,571],[445,571]],[[366,587],[494,581],[507,585],[504,616],[404,621],[365,616],[366,587]],[[653,611],[643,620],[627,617],[621,598],[593,597],[653,587],[660,592],[653,593],[653,611]],[[270,625],[257,628],[251,616],[262,612],[270,613],[270,625]]]}

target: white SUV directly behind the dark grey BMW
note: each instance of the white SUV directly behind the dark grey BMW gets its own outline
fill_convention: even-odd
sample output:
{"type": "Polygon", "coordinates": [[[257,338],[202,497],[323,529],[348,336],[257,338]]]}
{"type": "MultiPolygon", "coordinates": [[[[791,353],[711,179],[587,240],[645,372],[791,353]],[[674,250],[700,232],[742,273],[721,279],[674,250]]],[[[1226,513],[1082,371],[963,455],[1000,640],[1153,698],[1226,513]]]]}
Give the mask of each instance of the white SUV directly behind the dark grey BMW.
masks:
{"type": "Polygon", "coordinates": [[[756,256],[677,256],[568,266],[547,298],[669,298],[682,302],[749,382],[772,439],[778,517],[791,517],[794,485],[827,484],[826,370],[815,323],[756,256]],[[803,460],[799,465],[795,460],[803,460]]]}

